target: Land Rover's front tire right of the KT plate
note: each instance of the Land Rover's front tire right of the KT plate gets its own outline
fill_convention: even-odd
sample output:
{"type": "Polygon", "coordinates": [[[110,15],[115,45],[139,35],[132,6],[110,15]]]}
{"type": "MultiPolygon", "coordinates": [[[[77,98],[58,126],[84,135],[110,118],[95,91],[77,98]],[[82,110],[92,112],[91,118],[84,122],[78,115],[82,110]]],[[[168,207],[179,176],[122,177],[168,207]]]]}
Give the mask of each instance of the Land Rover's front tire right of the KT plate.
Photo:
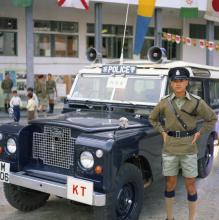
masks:
{"type": "Polygon", "coordinates": [[[96,220],[137,220],[143,203],[144,183],[141,171],[126,163],[119,169],[113,191],[104,207],[94,207],[96,220]]]}

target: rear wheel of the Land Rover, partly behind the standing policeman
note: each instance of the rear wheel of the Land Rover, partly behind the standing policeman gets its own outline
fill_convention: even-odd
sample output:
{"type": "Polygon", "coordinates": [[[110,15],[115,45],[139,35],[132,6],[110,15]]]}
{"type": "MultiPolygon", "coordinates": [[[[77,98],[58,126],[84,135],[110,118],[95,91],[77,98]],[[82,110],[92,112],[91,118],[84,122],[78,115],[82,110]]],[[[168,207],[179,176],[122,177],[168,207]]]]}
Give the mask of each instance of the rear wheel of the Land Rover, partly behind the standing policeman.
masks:
{"type": "Polygon", "coordinates": [[[211,135],[208,138],[204,157],[198,160],[198,177],[207,177],[212,169],[214,160],[214,137],[211,135]]]}

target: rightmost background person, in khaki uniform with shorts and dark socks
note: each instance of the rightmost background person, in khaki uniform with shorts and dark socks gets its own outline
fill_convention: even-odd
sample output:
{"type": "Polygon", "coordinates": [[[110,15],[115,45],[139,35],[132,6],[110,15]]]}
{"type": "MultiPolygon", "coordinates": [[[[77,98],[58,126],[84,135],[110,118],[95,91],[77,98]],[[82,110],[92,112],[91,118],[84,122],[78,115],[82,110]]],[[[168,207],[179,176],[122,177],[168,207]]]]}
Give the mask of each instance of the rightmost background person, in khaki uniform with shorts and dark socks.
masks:
{"type": "Polygon", "coordinates": [[[49,111],[48,113],[53,113],[55,105],[55,95],[57,96],[56,82],[52,78],[52,74],[48,74],[48,80],[46,81],[46,91],[49,99],[49,111]]]}

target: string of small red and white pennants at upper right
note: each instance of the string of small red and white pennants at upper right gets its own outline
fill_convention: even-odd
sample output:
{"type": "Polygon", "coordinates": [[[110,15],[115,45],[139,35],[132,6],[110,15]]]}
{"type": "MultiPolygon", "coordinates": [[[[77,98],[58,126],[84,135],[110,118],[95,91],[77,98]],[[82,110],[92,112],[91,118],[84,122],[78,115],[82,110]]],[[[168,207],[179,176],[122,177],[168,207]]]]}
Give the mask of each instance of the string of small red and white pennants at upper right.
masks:
{"type": "Polygon", "coordinates": [[[219,43],[216,43],[214,41],[208,41],[206,39],[194,39],[166,32],[163,32],[163,39],[177,44],[185,44],[187,46],[194,47],[199,46],[202,49],[207,48],[210,51],[215,50],[219,52],[219,43]]]}

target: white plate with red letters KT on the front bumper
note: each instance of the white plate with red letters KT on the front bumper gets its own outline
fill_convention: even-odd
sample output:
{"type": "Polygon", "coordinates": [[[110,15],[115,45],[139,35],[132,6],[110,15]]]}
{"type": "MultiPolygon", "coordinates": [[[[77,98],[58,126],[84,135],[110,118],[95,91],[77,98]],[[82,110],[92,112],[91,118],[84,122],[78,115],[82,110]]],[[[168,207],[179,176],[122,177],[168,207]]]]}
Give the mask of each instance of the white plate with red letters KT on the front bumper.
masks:
{"type": "Polygon", "coordinates": [[[93,182],[67,177],[67,198],[84,204],[93,204],[93,182]]]}

